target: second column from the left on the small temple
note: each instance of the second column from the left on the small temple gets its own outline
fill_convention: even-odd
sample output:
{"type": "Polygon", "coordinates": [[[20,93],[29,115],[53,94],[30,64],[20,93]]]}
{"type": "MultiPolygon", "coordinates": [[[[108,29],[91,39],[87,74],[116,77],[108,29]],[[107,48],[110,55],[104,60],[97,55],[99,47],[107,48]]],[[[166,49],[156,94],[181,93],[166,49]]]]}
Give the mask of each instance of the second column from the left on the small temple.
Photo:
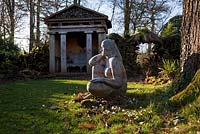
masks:
{"type": "Polygon", "coordinates": [[[67,72],[66,33],[60,33],[61,72],[67,72]]]}

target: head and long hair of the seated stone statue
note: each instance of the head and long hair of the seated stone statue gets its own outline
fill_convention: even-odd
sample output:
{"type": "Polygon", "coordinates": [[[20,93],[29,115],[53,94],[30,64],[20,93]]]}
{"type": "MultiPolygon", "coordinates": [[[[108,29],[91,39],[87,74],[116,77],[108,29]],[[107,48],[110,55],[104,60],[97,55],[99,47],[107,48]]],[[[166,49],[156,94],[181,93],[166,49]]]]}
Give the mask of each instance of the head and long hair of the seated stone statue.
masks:
{"type": "Polygon", "coordinates": [[[102,55],[108,58],[116,57],[122,60],[121,54],[114,40],[105,39],[101,43],[102,55]]]}

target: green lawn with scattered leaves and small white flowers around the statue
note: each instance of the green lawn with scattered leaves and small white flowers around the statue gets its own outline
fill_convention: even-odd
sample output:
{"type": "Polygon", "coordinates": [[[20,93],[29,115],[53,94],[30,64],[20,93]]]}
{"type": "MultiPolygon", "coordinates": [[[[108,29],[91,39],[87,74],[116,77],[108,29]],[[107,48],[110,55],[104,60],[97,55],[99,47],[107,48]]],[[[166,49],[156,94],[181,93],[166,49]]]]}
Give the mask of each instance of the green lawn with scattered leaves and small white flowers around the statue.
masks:
{"type": "Polygon", "coordinates": [[[86,83],[32,80],[0,85],[0,134],[200,132],[199,107],[171,107],[166,86],[129,82],[126,105],[84,108],[74,99],[86,91],[86,83]]]}

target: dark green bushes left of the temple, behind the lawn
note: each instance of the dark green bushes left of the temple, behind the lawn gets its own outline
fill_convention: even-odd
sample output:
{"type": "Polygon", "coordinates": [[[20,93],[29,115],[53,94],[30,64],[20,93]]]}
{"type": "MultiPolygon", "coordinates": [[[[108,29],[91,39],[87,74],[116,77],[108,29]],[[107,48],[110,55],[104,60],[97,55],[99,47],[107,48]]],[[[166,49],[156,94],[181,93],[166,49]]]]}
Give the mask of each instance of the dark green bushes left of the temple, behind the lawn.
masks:
{"type": "Polygon", "coordinates": [[[23,78],[22,73],[27,71],[33,74],[29,78],[35,78],[39,72],[48,72],[49,48],[41,43],[30,53],[22,53],[17,45],[0,38],[0,59],[0,79],[23,78]]]}

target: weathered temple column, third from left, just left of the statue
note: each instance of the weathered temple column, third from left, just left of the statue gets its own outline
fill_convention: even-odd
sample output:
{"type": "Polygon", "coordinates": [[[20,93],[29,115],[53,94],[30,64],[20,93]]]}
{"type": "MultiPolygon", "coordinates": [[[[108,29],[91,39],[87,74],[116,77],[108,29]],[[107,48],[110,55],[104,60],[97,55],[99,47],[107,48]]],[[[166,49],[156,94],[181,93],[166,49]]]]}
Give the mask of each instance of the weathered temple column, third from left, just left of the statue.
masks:
{"type": "Polygon", "coordinates": [[[89,59],[92,57],[92,32],[86,33],[86,53],[87,53],[87,73],[91,73],[91,67],[88,64],[89,59]]]}

